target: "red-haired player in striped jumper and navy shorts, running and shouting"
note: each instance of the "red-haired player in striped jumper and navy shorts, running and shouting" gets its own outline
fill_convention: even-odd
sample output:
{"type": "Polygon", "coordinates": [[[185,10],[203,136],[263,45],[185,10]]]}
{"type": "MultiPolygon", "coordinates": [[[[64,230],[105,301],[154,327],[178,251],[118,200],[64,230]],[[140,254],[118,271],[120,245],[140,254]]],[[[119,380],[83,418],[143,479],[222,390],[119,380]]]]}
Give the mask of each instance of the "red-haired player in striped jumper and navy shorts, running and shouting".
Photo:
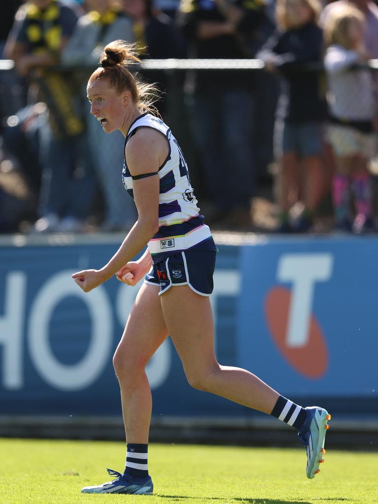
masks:
{"type": "Polygon", "coordinates": [[[170,335],[188,383],[284,421],[299,432],[307,452],[306,474],[319,472],[330,415],[321,407],[302,408],[251,372],[221,365],[214,352],[213,290],[216,246],[197,206],[183,153],[170,128],[156,115],[156,90],[136,80],[128,62],[132,46],[108,44],[87,86],[91,113],[106,133],[125,137],[123,184],[134,198],[138,220],[100,270],[72,275],[89,292],[114,275],[138,292],[113,357],[127,439],[122,473],[82,489],[84,493],[151,494],[148,437],[152,398],[145,367],[170,335]],[[133,261],[147,245],[140,259],[133,261]]]}

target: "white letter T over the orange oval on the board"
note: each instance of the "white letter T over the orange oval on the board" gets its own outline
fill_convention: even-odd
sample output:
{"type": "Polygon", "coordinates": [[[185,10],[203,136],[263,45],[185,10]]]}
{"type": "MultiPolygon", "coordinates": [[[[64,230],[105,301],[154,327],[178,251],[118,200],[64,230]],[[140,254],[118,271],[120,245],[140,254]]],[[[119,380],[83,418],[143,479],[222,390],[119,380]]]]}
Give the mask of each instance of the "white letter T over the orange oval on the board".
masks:
{"type": "Polygon", "coordinates": [[[288,347],[306,345],[314,284],[329,280],[332,266],[333,257],[330,254],[284,254],[280,257],[277,279],[280,282],[293,283],[286,330],[288,347]]]}

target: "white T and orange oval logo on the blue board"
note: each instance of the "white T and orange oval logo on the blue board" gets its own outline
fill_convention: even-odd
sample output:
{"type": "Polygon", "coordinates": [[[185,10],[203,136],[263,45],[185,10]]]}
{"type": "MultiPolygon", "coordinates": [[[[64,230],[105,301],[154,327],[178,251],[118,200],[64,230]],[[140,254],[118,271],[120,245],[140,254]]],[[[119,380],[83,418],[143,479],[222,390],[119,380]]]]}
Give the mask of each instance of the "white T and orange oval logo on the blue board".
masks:
{"type": "Polygon", "coordinates": [[[328,367],[328,349],[323,331],[312,314],[317,282],[332,276],[330,254],[284,254],[277,267],[277,280],[291,283],[273,287],[265,298],[267,323],[283,357],[301,374],[321,378],[328,367]]]}

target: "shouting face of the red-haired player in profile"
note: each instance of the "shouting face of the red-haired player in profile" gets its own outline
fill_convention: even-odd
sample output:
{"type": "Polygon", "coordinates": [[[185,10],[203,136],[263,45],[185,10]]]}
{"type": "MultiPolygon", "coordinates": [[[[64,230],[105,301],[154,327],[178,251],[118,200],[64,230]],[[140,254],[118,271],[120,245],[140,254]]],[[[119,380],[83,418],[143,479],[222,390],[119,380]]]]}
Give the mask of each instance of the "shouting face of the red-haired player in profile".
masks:
{"type": "Polygon", "coordinates": [[[109,86],[108,79],[98,79],[87,87],[87,96],[91,104],[91,114],[100,122],[105,133],[120,130],[127,118],[130,105],[130,92],[118,94],[109,86]]]}

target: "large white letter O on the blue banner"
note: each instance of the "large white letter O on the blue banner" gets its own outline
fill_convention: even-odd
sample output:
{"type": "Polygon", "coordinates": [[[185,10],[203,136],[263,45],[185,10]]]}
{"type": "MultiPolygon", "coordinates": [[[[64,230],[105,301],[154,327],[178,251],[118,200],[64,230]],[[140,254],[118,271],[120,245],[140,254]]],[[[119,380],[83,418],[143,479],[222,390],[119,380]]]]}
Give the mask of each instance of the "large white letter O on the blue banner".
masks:
{"type": "Polygon", "coordinates": [[[60,390],[89,387],[109,359],[113,336],[113,316],[102,286],[86,294],[71,278],[72,271],[53,275],[38,292],[30,310],[29,350],[35,367],[44,380],[60,390]],[[91,340],[85,356],[75,364],[62,364],[51,351],[49,324],[56,305],[67,296],[79,297],[91,316],[91,340]]]}

